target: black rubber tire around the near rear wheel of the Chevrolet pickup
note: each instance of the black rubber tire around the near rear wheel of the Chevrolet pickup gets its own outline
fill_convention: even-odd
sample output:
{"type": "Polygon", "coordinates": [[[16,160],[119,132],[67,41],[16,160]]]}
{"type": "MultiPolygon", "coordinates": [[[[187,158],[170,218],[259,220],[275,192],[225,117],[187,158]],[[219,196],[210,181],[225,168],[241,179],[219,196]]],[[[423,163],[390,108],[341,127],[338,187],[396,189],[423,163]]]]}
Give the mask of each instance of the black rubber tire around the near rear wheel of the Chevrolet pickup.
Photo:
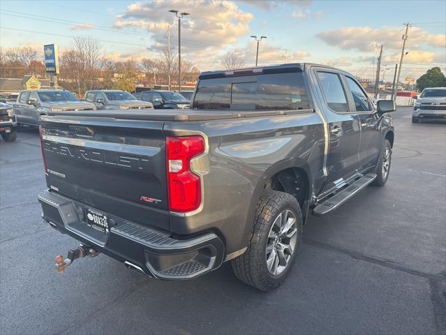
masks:
{"type": "MultiPolygon", "coordinates": [[[[291,214],[290,214],[291,215],[291,214]]],[[[294,236],[294,235],[293,235],[294,236]]],[[[247,251],[231,261],[234,274],[240,281],[247,285],[251,285],[262,291],[272,290],[283,283],[299,251],[302,240],[302,214],[298,200],[289,193],[279,191],[263,191],[257,202],[256,214],[254,216],[254,225],[252,235],[249,240],[247,251]],[[295,246],[291,255],[287,253],[289,259],[286,261],[285,268],[277,275],[270,274],[268,270],[266,256],[266,246],[268,241],[271,243],[268,235],[272,232],[272,225],[279,214],[284,212],[292,214],[295,217],[296,239],[295,246]]],[[[282,251],[282,257],[284,253],[282,251]]],[[[274,258],[274,261],[275,262],[274,258]]],[[[277,253],[277,266],[280,258],[277,253]]]]}

